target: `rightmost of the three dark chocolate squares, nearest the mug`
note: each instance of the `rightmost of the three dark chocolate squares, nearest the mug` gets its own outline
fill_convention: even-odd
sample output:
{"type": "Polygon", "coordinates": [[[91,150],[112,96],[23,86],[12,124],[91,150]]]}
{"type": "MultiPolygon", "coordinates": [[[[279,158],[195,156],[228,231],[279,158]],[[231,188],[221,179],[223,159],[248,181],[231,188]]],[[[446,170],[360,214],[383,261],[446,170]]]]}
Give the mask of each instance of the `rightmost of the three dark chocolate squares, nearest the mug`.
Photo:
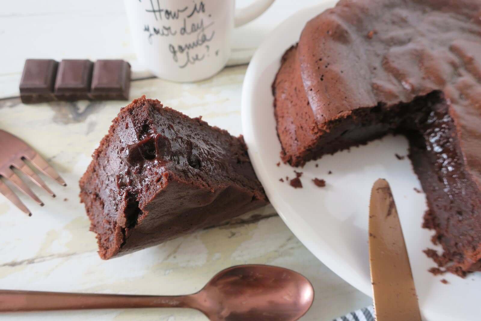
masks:
{"type": "Polygon", "coordinates": [[[130,64],[124,60],[97,60],[93,67],[90,98],[128,100],[130,64]]]}

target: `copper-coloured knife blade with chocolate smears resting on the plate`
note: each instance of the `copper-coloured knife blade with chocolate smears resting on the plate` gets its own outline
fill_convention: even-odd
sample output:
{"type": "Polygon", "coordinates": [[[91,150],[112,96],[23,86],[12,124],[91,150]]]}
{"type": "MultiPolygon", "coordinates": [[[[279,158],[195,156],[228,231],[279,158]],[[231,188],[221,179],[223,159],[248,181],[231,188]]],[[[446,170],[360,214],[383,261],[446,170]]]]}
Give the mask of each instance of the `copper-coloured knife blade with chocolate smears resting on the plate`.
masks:
{"type": "Polygon", "coordinates": [[[391,188],[379,179],[369,205],[369,263],[377,321],[420,321],[418,296],[391,188]]]}

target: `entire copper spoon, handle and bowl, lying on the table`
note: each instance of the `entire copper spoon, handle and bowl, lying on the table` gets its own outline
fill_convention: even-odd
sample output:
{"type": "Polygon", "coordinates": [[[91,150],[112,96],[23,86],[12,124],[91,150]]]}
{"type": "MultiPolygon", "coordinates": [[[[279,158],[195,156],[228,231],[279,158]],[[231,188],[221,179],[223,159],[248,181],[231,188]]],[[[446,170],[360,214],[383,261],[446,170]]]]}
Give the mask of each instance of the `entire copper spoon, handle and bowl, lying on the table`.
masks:
{"type": "Polygon", "coordinates": [[[292,270],[239,265],[191,295],[115,295],[0,290],[0,312],[100,308],[195,308],[211,321],[294,321],[314,300],[311,283],[292,270]]]}

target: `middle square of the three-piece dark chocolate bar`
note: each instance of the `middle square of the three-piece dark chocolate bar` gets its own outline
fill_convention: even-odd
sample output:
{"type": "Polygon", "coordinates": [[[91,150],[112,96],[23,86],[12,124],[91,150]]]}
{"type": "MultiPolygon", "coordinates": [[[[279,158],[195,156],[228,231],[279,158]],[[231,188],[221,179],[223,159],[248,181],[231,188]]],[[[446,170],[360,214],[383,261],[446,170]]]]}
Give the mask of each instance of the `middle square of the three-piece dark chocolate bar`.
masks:
{"type": "Polygon", "coordinates": [[[92,66],[89,60],[62,60],[55,80],[55,97],[66,101],[89,99],[92,66]]]}

